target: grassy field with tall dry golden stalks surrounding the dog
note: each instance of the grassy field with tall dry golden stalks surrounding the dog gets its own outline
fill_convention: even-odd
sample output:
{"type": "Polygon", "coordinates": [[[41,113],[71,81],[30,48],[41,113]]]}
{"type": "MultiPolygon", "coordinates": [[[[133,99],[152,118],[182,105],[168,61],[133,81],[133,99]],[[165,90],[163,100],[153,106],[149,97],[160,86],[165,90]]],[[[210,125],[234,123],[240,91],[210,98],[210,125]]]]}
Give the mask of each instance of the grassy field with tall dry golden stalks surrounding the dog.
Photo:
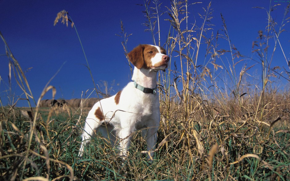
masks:
{"type": "MultiPolygon", "coordinates": [[[[284,24],[289,21],[289,5],[284,24]]],[[[172,1],[168,8],[172,27],[164,47],[179,62],[170,62],[170,71],[159,74],[161,121],[152,163],[146,159],[146,143],[139,132],[133,133],[125,160],[100,137],[93,138],[79,158],[81,128],[89,109],[39,107],[43,96],[49,90],[54,93],[55,88],[47,86],[39,98],[29,98],[29,82],[8,48],[9,42],[0,34],[13,67],[10,77],[15,76],[31,105],[3,105],[0,99],[0,180],[290,180],[290,75],[289,70],[282,73],[271,65],[275,49],[271,52],[268,47],[284,50],[270,38],[274,32],[271,35],[278,39],[284,31],[283,26],[274,26],[272,7],[267,11],[267,31],[259,32],[253,42],[255,61],[262,69],[257,78],[249,75],[251,66],[243,66],[239,72],[235,69],[251,58],[231,44],[226,20],[221,16],[223,34],[205,37],[212,28],[206,26],[212,18],[211,5],[200,15],[204,23],[194,29],[187,29],[187,6],[187,1],[172,1]],[[228,50],[218,48],[217,37],[229,42],[228,50]],[[201,43],[208,44],[204,51],[211,61],[200,65],[201,43]],[[231,66],[216,64],[217,60],[226,60],[231,66]],[[216,82],[221,68],[228,77],[222,83],[216,82]],[[278,77],[284,77],[283,87],[277,86],[278,77]],[[254,78],[257,84],[253,84],[254,78]]],[[[160,4],[145,2],[144,8],[147,31],[158,45],[159,30],[154,27],[159,27],[160,4]]],[[[74,27],[66,11],[57,15],[56,23],[59,20],[74,27]]],[[[130,35],[122,22],[121,30],[122,45],[128,52],[130,35]]]]}

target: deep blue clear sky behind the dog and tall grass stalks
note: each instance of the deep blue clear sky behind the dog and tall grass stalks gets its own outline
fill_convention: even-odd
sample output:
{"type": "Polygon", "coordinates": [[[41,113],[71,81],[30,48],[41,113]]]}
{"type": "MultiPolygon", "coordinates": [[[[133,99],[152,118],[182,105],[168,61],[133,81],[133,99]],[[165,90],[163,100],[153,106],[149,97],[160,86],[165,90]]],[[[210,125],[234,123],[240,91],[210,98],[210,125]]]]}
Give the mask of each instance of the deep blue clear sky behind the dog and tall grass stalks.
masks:
{"type": "MultiPolygon", "coordinates": [[[[161,11],[166,11],[165,6],[170,6],[170,1],[162,1],[161,11]]],[[[197,1],[189,1],[197,2],[197,1]]],[[[191,5],[188,8],[189,20],[201,26],[202,21],[198,13],[203,14],[203,9],[210,1],[201,1],[201,4],[191,5]]],[[[280,26],[284,9],[288,2],[280,1],[281,5],[272,13],[272,17],[280,26]]],[[[33,96],[38,99],[44,86],[52,76],[60,69],[60,72],[50,82],[56,88],[56,98],[80,98],[82,91],[94,88],[89,71],[86,68],[86,61],[77,38],[76,31],[70,26],[66,27],[60,22],[53,26],[56,14],[61,10],[66,10],[72,17],[79,36],[81,38],[93,78],[97,84],[102,85],[105,80],[114,84],[110,94],[118,92],[131,81],[128,62],[124,56],[121,45],[122,38],[115,34],[120,34],[120,20],[122,20],[125,31],[132,34],[129,37],[127,46],[132,50],[138,44],[152,44],[151,34],[144,32],[146,27],[142,11],[142,0],[136,1],[16,1],[0,0],[0,31],[8,43],[13,55],[19,61],[22,69],[26,71],[26,77],[31,87],[33,96]]],[[[275,1],[271,5],[277,4],[275,1]]],[[[257,40],[258,31],[265,30],[267,26],[267,14],[265,10],[252,8],[255,6],[264,7],[267,10],[270,1],[267,0],[216,0],[212,2],[214,24],[212,31],[208,31],[206,36],[221,33],[222,20],[221,13],[226,20],[231,43],[241,52],[242,55],[254,57],[252,54],[252,42],[257,40]]],[[[288,16],[289,17],[289,14],[288,16]]],[[[160,17],[161,44],[164,44],[170,28],[170,23],[165,13],[160,17]]],[[[284,48],[286,58],[289,59],[290,34],[289,24],[287,24],[280,36],[280,42],[284,48]]],[[[156,36],[157,38],[157,36],[156,36]]],[[[1,41],[2,42],[2,41],[1,41]]],[[[229,50],[225,40],[219,42],[220,49],[229,50]]],[[[203,64],[206,46],[203,45],[200,61],[203,64]]],[[[273,47],[270,47],[273,48],[273,47]]],[[[22,97],[22,91],[12,78],[10,91],[8,81],[8,59],[5,55],[4,43],[0,43],[0,98],[6,105],[9,102],[7,93],[13,94],[15,99],[22,97]]],[[[271,67],[285,67],[289,71],[287,61],[282,56],[279,47],[275,50],[275,60],[271,67]]],[[[175,57],[171,57],[173,61],[175,57]]],[[[176,58],[178,59],[178,58],[176,58]]],[[[225,58],[226,60],[226,58],[225,58]]],[[[257,59],[258,60],[258,59],[257,59]]],[[[179,61],[179,60],[176,60],[179,61]]],[[[239,65],[241,69],[242,65],[239,65]]],[[[249,65],[255,62],[247,62],[249,65]]],[[[253,68],[260,71],[260,66],[253,68]]],[[[286,81],[287,82],[287,81],[286,81]]],[[[102,89],[102,87],[101,87],[102,89]]],[[[96,95],[93,94],[92,97],[96,95]]],[[[10,97],[11,98],[11,97],[10,97]]],[[[44,98],[51,98],[49,92],[44,98]]],[[[18,106],[27,106],[27,101],[20,100],[18,106]]]]}

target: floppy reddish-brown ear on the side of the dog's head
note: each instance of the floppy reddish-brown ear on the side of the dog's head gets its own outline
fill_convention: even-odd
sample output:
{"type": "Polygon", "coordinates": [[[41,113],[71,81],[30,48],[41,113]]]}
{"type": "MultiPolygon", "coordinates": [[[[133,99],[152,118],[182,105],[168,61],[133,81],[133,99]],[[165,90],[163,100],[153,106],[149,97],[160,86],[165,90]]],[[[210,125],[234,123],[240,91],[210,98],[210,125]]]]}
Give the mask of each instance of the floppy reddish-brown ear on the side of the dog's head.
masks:
{"type": "Polygon", "coordinates": [[[144,46],[139,45],[127,54],[130,62],[138,69],[142,68],[144,65],[143,50],[144,46]]]}

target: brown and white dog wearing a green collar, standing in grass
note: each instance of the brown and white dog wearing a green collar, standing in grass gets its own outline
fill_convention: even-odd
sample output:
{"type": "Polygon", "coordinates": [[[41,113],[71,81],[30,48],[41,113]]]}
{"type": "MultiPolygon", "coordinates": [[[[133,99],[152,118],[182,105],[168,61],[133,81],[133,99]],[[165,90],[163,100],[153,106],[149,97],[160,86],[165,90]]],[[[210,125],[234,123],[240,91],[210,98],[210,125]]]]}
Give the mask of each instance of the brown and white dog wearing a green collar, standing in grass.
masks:
{"type": "Polygon", "coordinates": [[[97,102],[89,111],[79,156],[95,133],[109,138],[113,144],[119,138],[120,155],[126,156],[131,133],[141,130],[147,141],[147,158],[152,161],[160,122],[157,71],[167,68],[169,57],[164,48],[145,44],[135,47],[128,57],[135,66],[134,82],[116,95],[97,102]]]}

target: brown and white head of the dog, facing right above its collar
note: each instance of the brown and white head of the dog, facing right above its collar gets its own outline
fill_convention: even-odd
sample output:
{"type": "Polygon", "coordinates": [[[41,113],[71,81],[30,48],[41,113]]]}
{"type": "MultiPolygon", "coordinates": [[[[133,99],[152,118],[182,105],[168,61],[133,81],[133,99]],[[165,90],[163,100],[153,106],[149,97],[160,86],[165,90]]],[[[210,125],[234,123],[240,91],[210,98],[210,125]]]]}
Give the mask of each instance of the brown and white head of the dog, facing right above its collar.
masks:
{"type": "Polygon", "coordinates": [[[154,45],[139,45],[128,53],[131,63],[138,69],[165,70],[169,56],[163,47],[154,45]]]}

